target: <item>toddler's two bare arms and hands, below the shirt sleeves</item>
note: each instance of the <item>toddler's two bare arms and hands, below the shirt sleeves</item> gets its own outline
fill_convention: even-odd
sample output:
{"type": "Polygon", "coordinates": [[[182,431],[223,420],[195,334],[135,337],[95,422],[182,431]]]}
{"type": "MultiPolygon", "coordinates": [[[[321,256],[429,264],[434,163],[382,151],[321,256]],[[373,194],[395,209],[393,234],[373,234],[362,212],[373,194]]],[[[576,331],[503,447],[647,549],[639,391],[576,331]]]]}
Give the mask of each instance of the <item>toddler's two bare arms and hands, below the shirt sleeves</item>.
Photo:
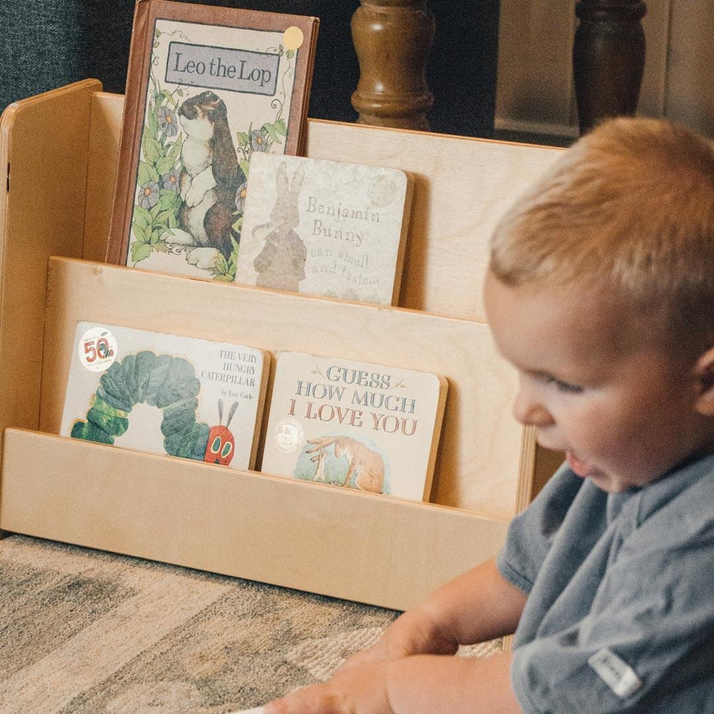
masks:
{"type": "Polygon", "coordinates": [[[401,615],[327,683],[266,705],[265,714],[519,713],[510,653],[485,659],[438,655],[513,632],[525,604],[525,593],[490,560],[401,615]]]}

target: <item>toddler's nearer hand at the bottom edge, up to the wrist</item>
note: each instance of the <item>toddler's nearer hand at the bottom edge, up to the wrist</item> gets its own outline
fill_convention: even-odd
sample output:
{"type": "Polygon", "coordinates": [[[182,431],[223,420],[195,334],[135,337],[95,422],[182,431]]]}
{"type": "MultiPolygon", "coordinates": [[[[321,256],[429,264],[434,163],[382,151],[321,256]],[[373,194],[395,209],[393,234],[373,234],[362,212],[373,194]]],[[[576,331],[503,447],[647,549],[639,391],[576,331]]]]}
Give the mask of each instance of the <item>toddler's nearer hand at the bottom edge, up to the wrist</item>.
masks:
{"type": "Polygon", "coordinates": [[[324,684],[298,689],[263,707],[263,714],[393,714],[387,697],[389,663],[341,668],[324,684]]]}

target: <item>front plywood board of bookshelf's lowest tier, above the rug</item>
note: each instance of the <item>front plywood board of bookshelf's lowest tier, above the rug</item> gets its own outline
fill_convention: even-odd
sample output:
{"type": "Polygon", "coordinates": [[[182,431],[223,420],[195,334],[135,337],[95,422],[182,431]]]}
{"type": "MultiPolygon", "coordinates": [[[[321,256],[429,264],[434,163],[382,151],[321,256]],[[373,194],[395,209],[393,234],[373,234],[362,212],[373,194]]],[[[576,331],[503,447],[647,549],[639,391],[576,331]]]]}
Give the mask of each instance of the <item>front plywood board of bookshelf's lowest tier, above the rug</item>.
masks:
{"type": "Polygon", "coordinates": [[[507,521],[6,429],[0,529],[405,610],[507,521]]]}

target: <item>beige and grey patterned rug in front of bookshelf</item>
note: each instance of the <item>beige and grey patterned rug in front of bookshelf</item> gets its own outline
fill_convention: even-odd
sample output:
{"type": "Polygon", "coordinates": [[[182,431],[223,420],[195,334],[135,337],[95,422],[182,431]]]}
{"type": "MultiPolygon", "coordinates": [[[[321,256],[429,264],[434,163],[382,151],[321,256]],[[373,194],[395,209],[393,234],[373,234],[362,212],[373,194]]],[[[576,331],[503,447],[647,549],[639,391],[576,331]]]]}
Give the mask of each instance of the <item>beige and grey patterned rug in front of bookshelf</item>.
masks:
{"type": "Polygon", "coordinates": [[[397,615],[10,535],[0,540],[0,714],[249,708],[328,678],[397,615]]]}

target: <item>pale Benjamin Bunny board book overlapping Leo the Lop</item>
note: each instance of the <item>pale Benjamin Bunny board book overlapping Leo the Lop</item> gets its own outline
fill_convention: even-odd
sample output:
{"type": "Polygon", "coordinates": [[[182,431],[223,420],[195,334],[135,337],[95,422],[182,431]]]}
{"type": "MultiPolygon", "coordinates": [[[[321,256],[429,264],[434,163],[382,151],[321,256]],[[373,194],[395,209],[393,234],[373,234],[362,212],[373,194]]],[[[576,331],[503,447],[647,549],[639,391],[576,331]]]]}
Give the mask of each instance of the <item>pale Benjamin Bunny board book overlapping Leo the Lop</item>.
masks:
{"type": "Polygon", "coordinates": [[[397,169],[253,156],[236,283],[396,304],[412,186],[397,169]]]}

